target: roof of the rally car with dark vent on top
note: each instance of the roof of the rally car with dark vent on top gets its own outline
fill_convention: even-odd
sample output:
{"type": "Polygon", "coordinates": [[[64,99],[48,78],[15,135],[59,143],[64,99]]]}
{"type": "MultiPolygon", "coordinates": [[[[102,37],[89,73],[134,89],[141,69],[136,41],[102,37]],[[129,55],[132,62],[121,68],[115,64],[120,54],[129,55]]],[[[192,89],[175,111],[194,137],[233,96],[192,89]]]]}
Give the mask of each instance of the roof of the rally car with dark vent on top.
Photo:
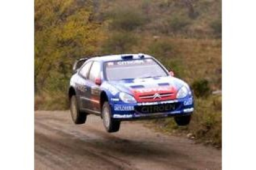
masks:
{"type": "Polygon", "coordinates": [[[92,57],[90,58],[90,60],[98,61],[98,62],[113,62],[116,60],[130,60],[129,56],[132,56],[132,60],[153,58],[147,54],[118,54],[118,55],[105,55],[101,57],[92,57]],[[124,59],[124,57],[127,57],[127,59],[124,59]]]}

